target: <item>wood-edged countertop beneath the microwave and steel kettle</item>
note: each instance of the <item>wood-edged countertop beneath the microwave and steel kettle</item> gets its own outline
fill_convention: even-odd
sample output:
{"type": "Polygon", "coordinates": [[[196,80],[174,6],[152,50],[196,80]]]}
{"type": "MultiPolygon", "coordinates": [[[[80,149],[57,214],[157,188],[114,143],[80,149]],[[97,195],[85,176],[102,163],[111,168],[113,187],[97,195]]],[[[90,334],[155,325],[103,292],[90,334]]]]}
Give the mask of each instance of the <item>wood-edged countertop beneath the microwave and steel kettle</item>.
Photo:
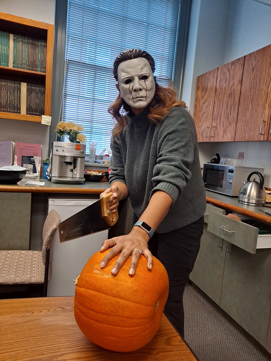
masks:
{"type": "Polygon", "coordinates": [[[224,194],[212,192],[212,191],[205,191],[206,192],[206,200],[208,203],[212,203],[220,208],[228,209],[232,212],[245,214],[246,216],[258,219],[259,221],[265,223],[271,223],[271,216],[262,213],[258,210],[258,208],[262,208],[265,212],[271,213],[270,207],[259,207],[259,206],[252,206],[246,205],[242,203],[238,203],[238,197],[230,197],[224,194]]]}

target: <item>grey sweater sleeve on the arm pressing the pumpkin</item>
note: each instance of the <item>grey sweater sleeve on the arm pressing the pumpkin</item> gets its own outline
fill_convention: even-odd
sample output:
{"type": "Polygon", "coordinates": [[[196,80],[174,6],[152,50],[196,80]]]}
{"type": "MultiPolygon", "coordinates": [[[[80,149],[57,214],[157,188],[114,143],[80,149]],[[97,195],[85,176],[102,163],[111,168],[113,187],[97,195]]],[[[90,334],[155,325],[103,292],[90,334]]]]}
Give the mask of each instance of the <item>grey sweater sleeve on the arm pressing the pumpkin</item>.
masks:
{"type": "Polygon", "coordinates": [[[166,192],[174,204],[191,178],[197,142],[193,118],[184,108],[172,108],[161,126],[158,136],[158,159],[154,167],[154,188],[166,192]]]}

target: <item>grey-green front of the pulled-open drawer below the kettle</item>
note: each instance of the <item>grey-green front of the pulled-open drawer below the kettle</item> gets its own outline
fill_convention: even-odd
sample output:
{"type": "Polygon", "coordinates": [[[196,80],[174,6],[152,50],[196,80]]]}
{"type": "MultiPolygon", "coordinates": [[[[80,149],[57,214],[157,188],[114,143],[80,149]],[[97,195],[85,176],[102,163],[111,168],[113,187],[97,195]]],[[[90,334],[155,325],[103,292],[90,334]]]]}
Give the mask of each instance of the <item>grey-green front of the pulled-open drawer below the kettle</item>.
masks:
{"type": "Polygon", "coordinates": [[[256,253],[259,230],[256,227],[210,212],[207,230],[247,252],[256,253]]]}

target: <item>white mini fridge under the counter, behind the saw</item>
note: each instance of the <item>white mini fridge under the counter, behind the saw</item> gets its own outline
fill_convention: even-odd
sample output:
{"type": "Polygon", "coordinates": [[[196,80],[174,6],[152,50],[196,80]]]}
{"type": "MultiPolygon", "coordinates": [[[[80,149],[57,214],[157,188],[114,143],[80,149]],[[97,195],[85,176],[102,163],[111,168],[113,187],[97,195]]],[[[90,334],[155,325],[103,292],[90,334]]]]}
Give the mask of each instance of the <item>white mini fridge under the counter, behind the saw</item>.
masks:
{"type": "MultiPolygon", "coordinates": [[[[86,208],[98,199],[50,198],[48,213],[54,209],[61,221],[86,208]]],[[[108,238],[108,230],[60,243],[58,230],[53,235],[50,257],[53,257],[52,278],[48,282],[47,296],[74,296],[73,280],[81,273],[89,258],[98,252],[108,238]]]]}

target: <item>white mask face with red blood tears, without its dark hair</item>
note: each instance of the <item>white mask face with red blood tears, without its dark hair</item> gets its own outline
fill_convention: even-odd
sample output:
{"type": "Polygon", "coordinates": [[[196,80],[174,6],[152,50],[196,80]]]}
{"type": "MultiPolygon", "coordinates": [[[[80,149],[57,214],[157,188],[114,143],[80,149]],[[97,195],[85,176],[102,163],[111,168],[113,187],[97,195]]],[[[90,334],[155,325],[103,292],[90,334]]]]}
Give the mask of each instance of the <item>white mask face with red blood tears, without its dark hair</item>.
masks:
{"type": "Polygon", "coordinates": [[[155,81],[149,61],[145,58],[125,60],[118,67],[117,89],[134,114],[149,105],[155,93],[155,81]]]}

